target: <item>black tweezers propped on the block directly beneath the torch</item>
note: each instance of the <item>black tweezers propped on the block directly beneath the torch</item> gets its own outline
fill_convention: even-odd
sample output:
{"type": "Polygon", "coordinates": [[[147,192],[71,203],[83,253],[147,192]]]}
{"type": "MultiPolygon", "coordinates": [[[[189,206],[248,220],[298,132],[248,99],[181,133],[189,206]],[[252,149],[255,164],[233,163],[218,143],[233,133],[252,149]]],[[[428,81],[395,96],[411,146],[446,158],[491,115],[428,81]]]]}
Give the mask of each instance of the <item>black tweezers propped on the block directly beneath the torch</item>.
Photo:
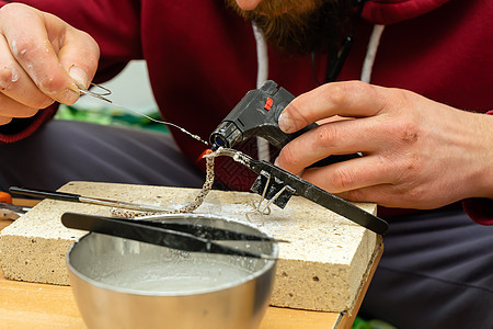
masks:
{"type": "MultiPolygon", "coordinates": [[[[234,161],[248,167],[259,174],[251,190],[263,198],[270,200],[267,205],[274,203],[284,208],[293,194],[308,198],[369,230],[385,235],[388,223],[345,200],[331,194],[312,183],[271,164],[264,160],[255,160],[252,157],[231,148],[218,148],[218,156],[227,156],[234,161]]],[[[262,201],[261,201],[262,202],[262,201]]]]}

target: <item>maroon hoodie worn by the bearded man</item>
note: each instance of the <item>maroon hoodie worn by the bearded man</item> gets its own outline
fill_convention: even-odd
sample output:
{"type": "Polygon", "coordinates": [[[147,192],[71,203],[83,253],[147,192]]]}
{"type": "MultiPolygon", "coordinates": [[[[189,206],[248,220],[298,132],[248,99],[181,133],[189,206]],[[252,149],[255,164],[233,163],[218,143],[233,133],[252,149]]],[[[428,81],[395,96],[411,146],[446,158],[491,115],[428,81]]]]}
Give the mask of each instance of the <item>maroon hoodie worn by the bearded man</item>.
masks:
{"type": "MultiPolygon", "coordinates": [[[[163,118],[205,139],[255,88],[252,26],[221,0],[19,2],[55,13],[96,39],[102,54],[96,81],[115,76],[130,59],[146,59],[163,118]]],[[[372,83],[408,89],[458,109],[483,113],[492,109],[493,1],[370,0],[363,16],[340,80],[359,79],[372,26],[385,24],[372,83]]],[[[268,79],[291,93],[317,87],[309,56],[286,56],[270,48],[268,57],[268,79]]],[[[323,56],[318,63],[325,63],[323,56]]],[[[323,65],[317,72],[323,76],[323,65]]],[[[0,143],[28,136],[54,111],[43,110],[27,127],[0,134],[0,143]]],[[[204,146],[173,133],[184,155],[195,161],[204,146]]],[[[234,181],[240,177],[227,179],[244,188],[244,182],[234,181]]],[[[492,200],[470,200],[465,206],[474,220],[493,224],[492,200]]]]}

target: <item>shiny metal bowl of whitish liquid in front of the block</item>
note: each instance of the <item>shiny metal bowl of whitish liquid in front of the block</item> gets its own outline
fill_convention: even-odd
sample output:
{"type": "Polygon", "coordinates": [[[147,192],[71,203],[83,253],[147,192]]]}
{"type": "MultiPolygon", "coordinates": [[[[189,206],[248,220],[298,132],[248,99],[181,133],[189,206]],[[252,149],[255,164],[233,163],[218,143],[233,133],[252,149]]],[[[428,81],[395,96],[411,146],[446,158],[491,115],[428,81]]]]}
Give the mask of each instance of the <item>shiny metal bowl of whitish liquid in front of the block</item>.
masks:
{"type": "MultiPolygon", "coordinates": [[[[267,235],[214,216],[180,220],[267,235]]],[[[278,252],[273,242],[228,241],[228,246],[273,258],[278,252]]],[[[275,263],[185,252],[94,232],[67,252],[70,284],[89,328],[256,328],[268,306],[275,263]]]]}

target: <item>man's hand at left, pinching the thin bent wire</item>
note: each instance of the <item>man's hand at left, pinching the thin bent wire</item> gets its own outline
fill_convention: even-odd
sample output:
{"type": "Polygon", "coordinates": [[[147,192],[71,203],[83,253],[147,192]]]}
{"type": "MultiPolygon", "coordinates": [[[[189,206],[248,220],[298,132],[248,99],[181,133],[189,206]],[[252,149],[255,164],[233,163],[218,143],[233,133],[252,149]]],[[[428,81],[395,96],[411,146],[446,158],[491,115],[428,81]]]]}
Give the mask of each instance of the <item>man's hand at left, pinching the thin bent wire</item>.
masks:
{"type": "Polygon", "coordinates": [[[55,101],[73,104],[94,77],[95,41],[59,18],[21,3],[0,9],[0,125],[55,101]]]}

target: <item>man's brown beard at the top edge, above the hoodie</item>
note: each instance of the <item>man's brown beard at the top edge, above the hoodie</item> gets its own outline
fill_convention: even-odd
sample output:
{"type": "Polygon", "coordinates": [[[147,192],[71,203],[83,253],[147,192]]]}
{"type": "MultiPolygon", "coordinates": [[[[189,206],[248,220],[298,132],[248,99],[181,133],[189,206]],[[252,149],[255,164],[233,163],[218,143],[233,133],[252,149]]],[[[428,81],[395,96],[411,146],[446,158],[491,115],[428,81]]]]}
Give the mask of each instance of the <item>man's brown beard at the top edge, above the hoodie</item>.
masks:
{"type": "Polygon", "coordinates": [[[226,2],[254,22],[270,44],[298,55],[334,52],[351,15],[351,0],[264,0],[251,11],[226,2]]]}

